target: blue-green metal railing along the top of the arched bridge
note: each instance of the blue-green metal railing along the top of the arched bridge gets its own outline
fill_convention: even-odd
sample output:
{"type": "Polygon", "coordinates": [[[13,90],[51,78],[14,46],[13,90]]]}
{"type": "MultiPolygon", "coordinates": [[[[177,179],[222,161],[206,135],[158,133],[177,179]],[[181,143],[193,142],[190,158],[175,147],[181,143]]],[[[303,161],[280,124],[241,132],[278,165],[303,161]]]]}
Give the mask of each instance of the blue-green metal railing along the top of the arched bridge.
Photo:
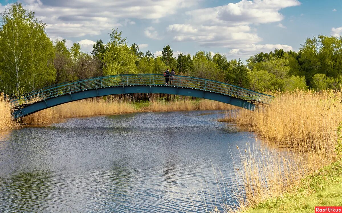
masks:
{"type": "MultiPolygon", "coordinates": [[[[228,83],[220,81],[189,77],[189,76],[174,76],[175,85],[183,88],[192,88],[205,90],[209,92],[216,92],[225,95],[231,95],[239,97],[241,99],[249,99],[262,103],[269,103],[273,96],[263,93],[259,93],[253,90],[242,88],[228,83]],[[185,80],[185,81],[183,81],[185,80]],[[229,91],[229,92],[228,92],[229,91]]],[[[47,98],[52,98],[57,95],[70,94],[81,90],[99,89],[110,86],[127,86],[127,85],[164,85],[165,77],[163,74],[122,74],[112,76],[99,76],[86,79],[79,79],[75,81],[63,82],[56,85],[47,86],[42,89],[34,90],[30,93],[25,93],[17,97],[11,98],[12,107],[16,107],[22,104],[29,104],[38,101],[42,101],[47,98]],[[153,82],[152,80],[153,76],[153,82]],[[126,78],[125,78],[126,77],[126,78]],[[138,78],[136,78],[138,77],[138,78]],[[146,78],[147,77],[147,78],[146,78]],[[102,80],[111,80],[105,82],[103,85],[102,80]],[[114,81],[113,81],[114,80],[114,81]],[[131,82],[131,80],[134,80],[131,82]],[[89,85],[88,85],[89,83],[89,85]],[[98,85],[100,84],[101,85],[98,85]],[[156,84],[157,83],[157,84],[156,84]],[[87,85],[86,85],[87,84],[87,85]],[[86,86],[85,88],[83,88],[86,86]],[[79,87],[79,88],[77,88],[79,87]]]]}

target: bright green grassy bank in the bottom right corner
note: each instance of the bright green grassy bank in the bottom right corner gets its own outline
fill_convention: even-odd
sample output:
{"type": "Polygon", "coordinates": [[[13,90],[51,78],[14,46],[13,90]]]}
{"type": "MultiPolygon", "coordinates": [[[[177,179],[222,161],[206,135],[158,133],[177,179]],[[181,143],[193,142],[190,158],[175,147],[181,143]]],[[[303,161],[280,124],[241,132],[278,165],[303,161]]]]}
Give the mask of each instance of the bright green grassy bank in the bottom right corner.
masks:
{"type": "Polygon", "coordinates": [[[342,205],[342,162],[307,176],[292,193],[269,199],[244,212],[315,212],[315,206],[342,205]]]}

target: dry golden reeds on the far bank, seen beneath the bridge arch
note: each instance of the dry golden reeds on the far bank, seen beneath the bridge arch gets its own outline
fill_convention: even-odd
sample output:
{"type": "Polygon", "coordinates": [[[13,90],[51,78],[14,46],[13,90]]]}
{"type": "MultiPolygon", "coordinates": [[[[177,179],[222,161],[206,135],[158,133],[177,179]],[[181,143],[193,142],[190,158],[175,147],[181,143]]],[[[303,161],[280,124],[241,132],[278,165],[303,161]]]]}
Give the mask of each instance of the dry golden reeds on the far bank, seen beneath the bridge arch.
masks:
{"type": "Polygon", "coordinates": [[[128,99],[106,100],[102,98],[84,99],[56,107],[44,109],[22,119],[26,124],[51,123],[61,118],[114,115],[139,111],[180,111],[233,109],[234,106],[211,100],[176,100],[171,102],[153,101],[147,107],[137,109],[128,99]]]}

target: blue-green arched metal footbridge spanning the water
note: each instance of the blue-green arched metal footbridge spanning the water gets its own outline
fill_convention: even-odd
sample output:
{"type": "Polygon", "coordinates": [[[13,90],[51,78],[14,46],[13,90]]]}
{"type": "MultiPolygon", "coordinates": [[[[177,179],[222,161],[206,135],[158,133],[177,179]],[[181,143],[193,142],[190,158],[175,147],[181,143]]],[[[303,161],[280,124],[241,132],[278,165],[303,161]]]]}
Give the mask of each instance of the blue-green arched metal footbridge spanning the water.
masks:
{"type": "Polygon", "coordinates": [[[239,86],[188,76],[175,76],[171,85],[165,85],[162,74],[127,74],[100,76],[52,85],[12,98],[14,118],[60,104],[85,98],[113,94],[165,93],[186,95],[219,101],[249,110],[257,104],[268,104],[273,96],[239,86]]]}

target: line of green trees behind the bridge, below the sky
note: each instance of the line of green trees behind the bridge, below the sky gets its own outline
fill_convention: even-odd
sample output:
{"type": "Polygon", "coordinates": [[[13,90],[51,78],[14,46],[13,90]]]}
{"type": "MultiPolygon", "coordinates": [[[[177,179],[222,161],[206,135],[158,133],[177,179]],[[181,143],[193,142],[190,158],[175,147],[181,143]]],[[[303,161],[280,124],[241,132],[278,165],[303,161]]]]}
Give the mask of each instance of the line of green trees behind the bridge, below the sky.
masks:
{"type": "Polygon", "coordinates": [[[342,37],[307,38],[298,52],[275,49],[251,56],[245,65],[240,59],[228,60],[224,54],[197,51],[193,56],[173,56],[167,45],[160,56],[143,53],[139,45],[128,44],[122,32],[112,29],[105,44],[97,40],[91,54],[66,40],[51,41],[46,24],[35,18],[21,3],[1,13],[0,89],[18,95],[45,86],[103,75],[154,73],[167,68],[176,75],[222,81],[255,91],[326,88],[342,84],[342,37]]]}

